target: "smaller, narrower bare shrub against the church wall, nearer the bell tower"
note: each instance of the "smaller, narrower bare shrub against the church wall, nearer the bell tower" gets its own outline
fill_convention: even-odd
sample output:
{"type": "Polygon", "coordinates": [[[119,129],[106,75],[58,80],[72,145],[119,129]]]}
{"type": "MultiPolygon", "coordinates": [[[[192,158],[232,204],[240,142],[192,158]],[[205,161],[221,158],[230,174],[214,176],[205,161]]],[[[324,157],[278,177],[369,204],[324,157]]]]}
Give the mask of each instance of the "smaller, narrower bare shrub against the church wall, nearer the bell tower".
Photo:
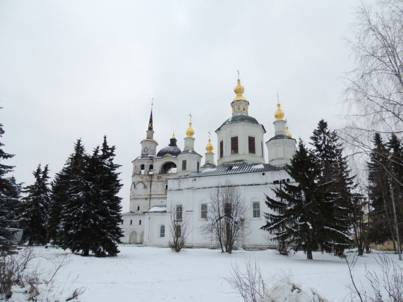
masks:
{"type": "Polygon", "coordinates": [[[186,214],[183,204],[172,203],[169,207],[169,242],[172,251],[180,252],[186,245],[191,233],[190,216],[186,214]]]}

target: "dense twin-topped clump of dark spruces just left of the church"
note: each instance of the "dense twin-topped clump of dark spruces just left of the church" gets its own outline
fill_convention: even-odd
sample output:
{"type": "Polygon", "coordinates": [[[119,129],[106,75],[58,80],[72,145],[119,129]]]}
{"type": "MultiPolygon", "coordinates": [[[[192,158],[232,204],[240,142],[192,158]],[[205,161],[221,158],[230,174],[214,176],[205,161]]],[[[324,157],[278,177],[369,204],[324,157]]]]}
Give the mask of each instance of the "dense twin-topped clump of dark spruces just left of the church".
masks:
{"type": "Polygon", "coordinates": [[[65,192],[55,192],[55,196],[66,197],[56,235],[63,249],[82,252],[83,256],[90,251],[96,256],[118,253],[116,242],[122,234],[118,227],[120,198],[116,194],[121,184],[115,172],[119,166],[113,164],[114,149],[104,137],[102,151],[96,147],[89,156],[81,140],[77,141],[68,161],[71,167],[65,167],[69,173],[57,188],[61,191],[64,187],[65,192]]]}

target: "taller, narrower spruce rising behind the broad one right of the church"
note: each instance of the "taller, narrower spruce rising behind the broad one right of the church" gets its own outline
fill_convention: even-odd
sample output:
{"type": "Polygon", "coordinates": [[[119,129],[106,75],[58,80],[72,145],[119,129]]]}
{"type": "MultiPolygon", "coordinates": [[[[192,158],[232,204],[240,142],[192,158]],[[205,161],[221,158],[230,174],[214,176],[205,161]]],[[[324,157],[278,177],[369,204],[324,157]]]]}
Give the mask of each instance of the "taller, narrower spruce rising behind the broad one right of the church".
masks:
{"type": "MultiPolygon", "coordinates": [[[[354,193],[354,176],[350,176],[347,159],[343,156],[343,146],[337,133],[328,129],[327,122],[321,119],[310,137],[312,152],[320,168],[318,184],[327,184],[327,191],[337,193],[335,215],[337,223],[348,230],[354,220],[354,201],[360,196],[354,193]],[[357,195],[357,196],[355,196],[357,195]]],[[[344,246],[340,246],[343,253],[344,246]]]]}

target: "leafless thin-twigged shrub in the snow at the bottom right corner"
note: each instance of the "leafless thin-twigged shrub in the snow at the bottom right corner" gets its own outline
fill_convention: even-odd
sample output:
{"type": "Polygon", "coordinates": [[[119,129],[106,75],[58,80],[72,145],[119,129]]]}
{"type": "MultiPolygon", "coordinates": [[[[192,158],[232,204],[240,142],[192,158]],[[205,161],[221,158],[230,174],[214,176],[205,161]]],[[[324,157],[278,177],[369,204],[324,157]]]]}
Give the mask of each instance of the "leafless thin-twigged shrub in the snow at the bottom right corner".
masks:
{"type": "Polygon", "coordinates": [[[403,302],[403,269],[390,260],[386,255],[378,255],[376,260],[380,273],[370,271],[365,267],[365,278],[369,285],[357,288],[352,271],[357,262],[358,256],[355,254],[351,260],[346,258],[352,285],[351,300],[360,302],[403,302]]]}

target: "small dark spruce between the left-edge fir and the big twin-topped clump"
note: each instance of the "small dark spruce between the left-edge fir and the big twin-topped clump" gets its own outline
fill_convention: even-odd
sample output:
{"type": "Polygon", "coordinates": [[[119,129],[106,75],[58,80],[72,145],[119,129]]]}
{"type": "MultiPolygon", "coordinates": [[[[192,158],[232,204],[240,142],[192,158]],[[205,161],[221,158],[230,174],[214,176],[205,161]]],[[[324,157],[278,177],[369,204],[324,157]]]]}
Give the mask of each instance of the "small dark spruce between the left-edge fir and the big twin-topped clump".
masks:
{"type": "Polygon", "coordinates": [[[20,209],[20,228],[24,230],[22,241],[29,240],[28,245],[45,245],[47,242],[47,221],[49,214],[49,176],[48,165],[41,169],[41,165],[33,175],[34,184],[24,190],[28,196],[23,198],[20,209]]]}

